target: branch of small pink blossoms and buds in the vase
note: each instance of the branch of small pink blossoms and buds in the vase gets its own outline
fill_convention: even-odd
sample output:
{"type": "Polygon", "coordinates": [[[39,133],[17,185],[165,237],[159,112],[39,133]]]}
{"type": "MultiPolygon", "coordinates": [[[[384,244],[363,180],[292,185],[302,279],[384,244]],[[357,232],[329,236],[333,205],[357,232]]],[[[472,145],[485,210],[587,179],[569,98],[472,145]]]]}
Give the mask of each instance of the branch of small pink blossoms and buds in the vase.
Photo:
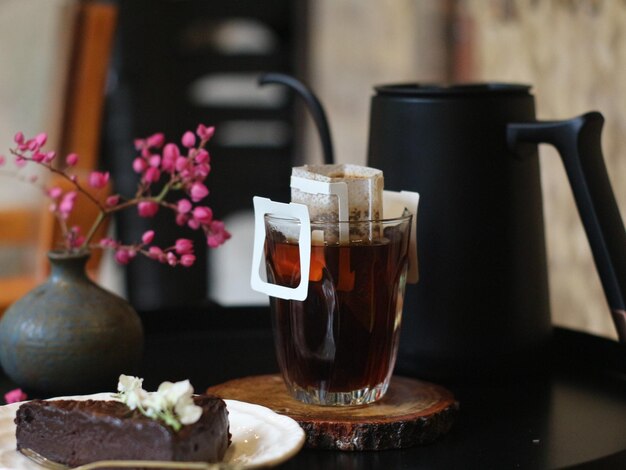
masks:
{"type": "MultiPolygon", "coordinates": [[[[214,219],[212,209],[202,204],[209,194],[205,180],[211,171],[210,155],[205,147],[214,132],[213,127],[202,124],[195,133],[185,132],[180,141],[182,151],[178,144],[166,143],[161,133],[136,139],[135,149],[138,155],[133,160],[132,167],[140,177],[137,190],[131,198],[113,194],[104,203],[92,191],[102,191],[109,186],[109,173],[92,171],[86,183],[80,181],[78,175],[72,173],[72,168],[79,161],[79,156],[75,153],[67,155],[63,169],[55,167],[56,153],[43,150],[47,140],[45,133],[26,139],[18,132],[14,138],[16,146],[10,152],[15,157],[18,171],[26,164],[33,163],[70,183],[71,189],[65,191],[58,186],[44,187],[45,194],[52,202],[50,210],[59,220],[65,250],[76,252],[110,248],[115,250],[115,259],[122,264],[141,254],[172,266],[191,266],[196,258],[193,242],[186,238],[180,238],[174,245],[166,248],[152,244],[155,238],[152,230],[145,232],[141,242],[134,244],[123,244],[107,237],[94,241],[94,238],[102,223],[116,212],[136,207],[140,217],[151,218],[163,207],[174,213],[175,222],[179,226],[202,230],[209,247],[217,247],[228,240],[230,233],[225,229],[224,223],[214,219]],[[160,183],[162,186],[157,190],[156,186],[160,183]],[[182,192],[183,197],[176,202],[168,201],[168,197],[175,192],[182,192]],[[97,216],[84,236],[81,227],[68,225],[79,197],[86,198],[97,210],[97,216]]],[[[5,160],[0,156],[0,165],[5,164],[5,160]]]]}

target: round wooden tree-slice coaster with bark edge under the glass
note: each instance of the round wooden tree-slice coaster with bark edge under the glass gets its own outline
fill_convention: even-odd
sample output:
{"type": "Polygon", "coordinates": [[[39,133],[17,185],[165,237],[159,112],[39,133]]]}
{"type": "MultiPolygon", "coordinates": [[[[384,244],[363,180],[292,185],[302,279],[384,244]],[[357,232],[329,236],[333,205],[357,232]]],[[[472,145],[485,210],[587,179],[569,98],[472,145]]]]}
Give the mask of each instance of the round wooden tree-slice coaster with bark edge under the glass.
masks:
{"type": "Polygon", "coordinates": [[[370,405],[307,405],[292,398],[280,375],[259,375],[209,387],[224,399],[266,406],[296,420],[312,449],[383,450],[426,444],[447,433],[458,402],[445,388],[393,377],[386,395],[370,405]]]}

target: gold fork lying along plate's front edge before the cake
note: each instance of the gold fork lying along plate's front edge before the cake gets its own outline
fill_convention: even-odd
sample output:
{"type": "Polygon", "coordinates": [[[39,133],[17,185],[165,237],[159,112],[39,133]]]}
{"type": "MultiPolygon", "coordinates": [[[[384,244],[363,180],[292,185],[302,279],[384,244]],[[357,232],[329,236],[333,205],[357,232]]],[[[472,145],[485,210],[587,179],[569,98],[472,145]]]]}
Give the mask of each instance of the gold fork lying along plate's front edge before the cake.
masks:
{"type": "MultiPolygon", "coordinates": [[[[32,449],[21,448],[20,452],[38,465],[49,470],[68,470],[72,467],[63,465],[47,459],[43,455],[32,449]]],[[[177,468],[188,470],[235,470],[239,466],[227,463],[206,463],[206,462],[166,462],[159,460],[100,460],[91,462],[80,467],[73,467],[73,470],[92,470],[97,468],[177,468]]]]}

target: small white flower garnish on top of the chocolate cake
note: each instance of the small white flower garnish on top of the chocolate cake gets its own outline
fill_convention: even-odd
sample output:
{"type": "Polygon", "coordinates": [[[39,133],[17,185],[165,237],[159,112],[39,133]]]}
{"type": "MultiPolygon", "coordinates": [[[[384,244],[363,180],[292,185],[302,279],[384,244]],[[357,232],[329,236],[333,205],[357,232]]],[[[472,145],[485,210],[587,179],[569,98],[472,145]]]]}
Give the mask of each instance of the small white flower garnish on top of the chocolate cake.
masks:
{"type": "Polygon", "coordinates": [[[131,410],[138,409],[149,418],[160,419],[175,431],[200,419],[202,408],[193,402],[189,380],[163,382],[156,392],[147,392],[142,385],[143,379],[122,374],[117,397],[131,410]]]}

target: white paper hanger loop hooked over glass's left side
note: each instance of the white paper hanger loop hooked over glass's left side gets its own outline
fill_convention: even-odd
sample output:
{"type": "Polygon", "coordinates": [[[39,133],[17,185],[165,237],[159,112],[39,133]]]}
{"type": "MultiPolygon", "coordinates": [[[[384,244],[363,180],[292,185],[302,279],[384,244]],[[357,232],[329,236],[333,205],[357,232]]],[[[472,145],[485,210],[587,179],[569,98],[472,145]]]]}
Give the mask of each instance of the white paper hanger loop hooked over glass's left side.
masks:
{"type": "Polygon", "coordinates": [[[252,253],[252,271],[250,286],[253,290],[285,300],[305,300],[309,288],[309,268],[311,265],[311,221],[309,208],[305,204],[294,202],[274,202],[270,199],[255,196],[254,203],[254,250],[252,253]],[[300,284],[297,287],[286,287],[261,279],[260,269],[263,262],[265,245],[265,214],[292,217],[300,221],[298,240],[300,253],[300,284]]]}

